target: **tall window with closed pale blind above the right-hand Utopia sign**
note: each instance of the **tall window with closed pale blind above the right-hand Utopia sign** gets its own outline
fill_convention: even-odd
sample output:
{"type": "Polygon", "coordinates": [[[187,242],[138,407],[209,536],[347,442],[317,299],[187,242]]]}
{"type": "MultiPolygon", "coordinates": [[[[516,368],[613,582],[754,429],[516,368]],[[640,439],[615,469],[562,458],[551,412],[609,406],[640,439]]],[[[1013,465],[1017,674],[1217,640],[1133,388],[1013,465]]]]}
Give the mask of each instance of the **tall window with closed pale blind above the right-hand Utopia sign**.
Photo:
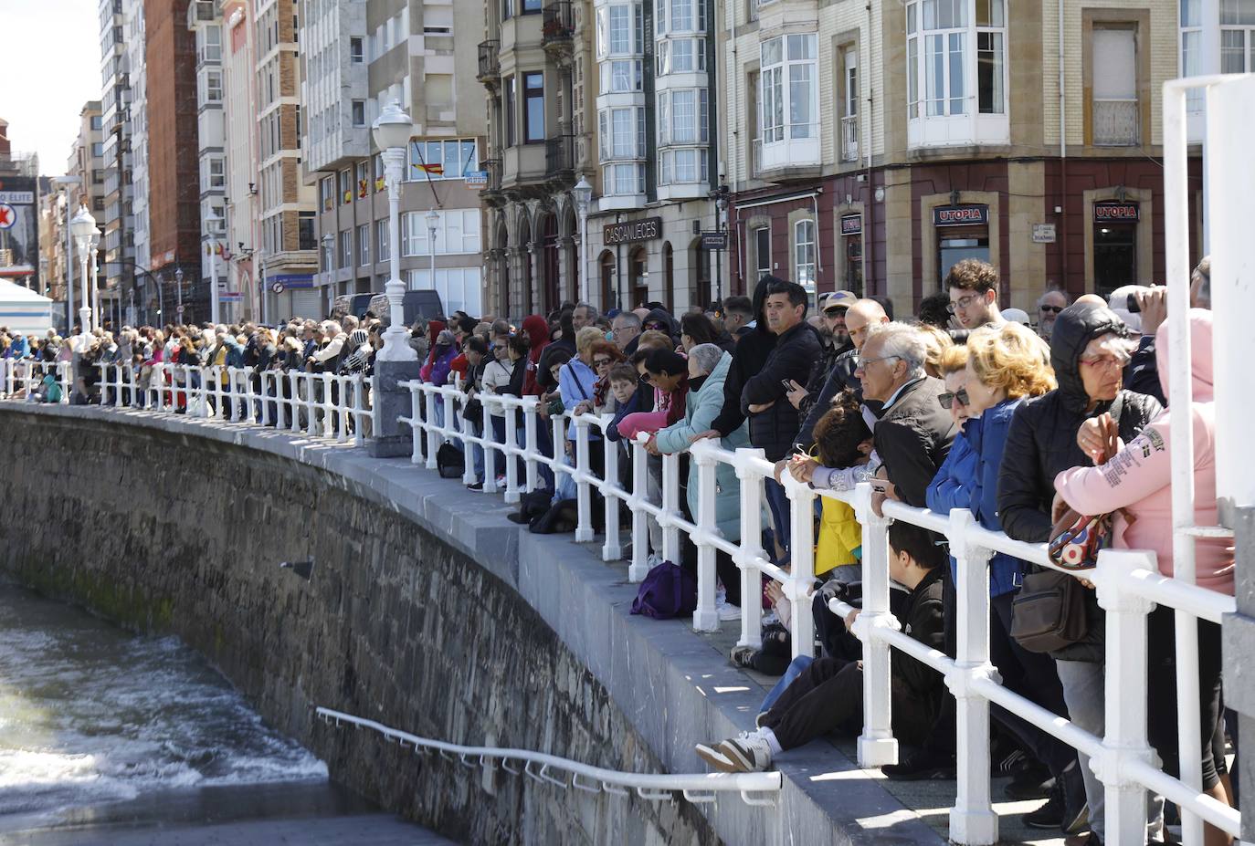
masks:
{"type": "Polygon", "coordinates": [[[1099,147],[1136,147],[1141,133],[1137,105],[1137,31],[1130,28],[1094,29],[1093,143],[1099,147]]]}

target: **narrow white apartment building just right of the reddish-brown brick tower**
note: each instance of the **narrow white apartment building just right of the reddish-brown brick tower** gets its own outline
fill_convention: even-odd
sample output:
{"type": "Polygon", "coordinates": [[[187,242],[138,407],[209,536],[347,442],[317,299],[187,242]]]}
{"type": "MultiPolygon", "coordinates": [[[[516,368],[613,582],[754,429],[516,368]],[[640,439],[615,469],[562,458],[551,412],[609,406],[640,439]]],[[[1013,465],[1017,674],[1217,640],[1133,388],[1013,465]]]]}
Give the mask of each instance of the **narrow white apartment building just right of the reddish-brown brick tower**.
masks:
{"type": "Polygon", "coordinates": [[[231,249],[226,241],[227,158],[222,108],[222,16],[218,4],[215,0],[191,0],[187,4],[187,30],[196,39],[200,277],[218,287],[218,320],[227,321],[240,315],[242,296],[228,285],[231,249]]]}

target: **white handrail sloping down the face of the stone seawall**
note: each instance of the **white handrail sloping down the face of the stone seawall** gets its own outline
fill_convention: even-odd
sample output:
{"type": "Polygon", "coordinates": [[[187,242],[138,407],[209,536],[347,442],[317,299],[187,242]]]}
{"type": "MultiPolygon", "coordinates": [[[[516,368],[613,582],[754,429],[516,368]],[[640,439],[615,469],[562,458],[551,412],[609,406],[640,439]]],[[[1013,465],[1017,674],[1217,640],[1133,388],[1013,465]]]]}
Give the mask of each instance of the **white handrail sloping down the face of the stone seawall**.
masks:
{"type": "Polygon", "coordinates": [[[592,767],[579,761],[560,758],[543,752],[511,749],[496,746],[462,746],[425,737],[418,737],[398,728],[390,728],[374,719],[354,717],[341,711],[316,708],[315,714],[326,724],[339,727],[348,723],[355,728],[369,728],[384,736],[390,743],[403,748],[413,747],[415,753],[435,753],[446,761],[459,761],[467,767],[493,770],[497,763],[515,776],[527,776],[555,787],[574,788],[589,793],[609,793],[628,796],[635,791],[644,800],[673,800],[680,793],[689,802],[714,802],[720,793],[738,793],[745,805],[776,805],[783,778],[778,772],[743,773],[648,773],[621,772],[592,767]],[[515,770],[510,765],[522,765],[515,770]],[[535,768],[533,768],[535,767],[535,768]],[[570,776],[555,778],[550,772],[562,772],[570,776]],[[581,781],[582,780],[582,781],[581,781]],[[626,790],[625,790],[626,788],[626,790]]]}

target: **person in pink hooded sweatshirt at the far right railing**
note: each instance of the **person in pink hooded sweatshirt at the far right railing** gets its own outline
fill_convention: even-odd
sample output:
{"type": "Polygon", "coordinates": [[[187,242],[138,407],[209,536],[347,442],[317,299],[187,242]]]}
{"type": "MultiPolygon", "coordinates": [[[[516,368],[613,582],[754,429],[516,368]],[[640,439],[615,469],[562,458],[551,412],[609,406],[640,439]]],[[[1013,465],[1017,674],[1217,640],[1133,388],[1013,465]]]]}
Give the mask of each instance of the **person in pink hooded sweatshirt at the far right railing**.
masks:
{"type": "MultiPolygon", "coordinates": [[[[1211,312],[1191,308],[1190,346],[1194,379],[1194,495],[1196,525],[1216,525],[1215,390],[1212,382],[1211,312]]],[[[1156,335],[1156,348],[1170,351],[1168,322],[1156,335]]],[[[1160,382],[1168,391],[1168,355],[1158,357],[1160,382]]],[[[1113,545],[1121,549],[1155,551],[1160,572],[1172,575],[1172,427],[1181,415],[1162,411],[1128,445],[1106,464],[1064,470],[1054,480],[1059,496],[1082,514],[1117,511],[1112,526],[1113,545]]],[[[1234,553],[1229,541],[1200,538],[1195,541],[1195,565],[1200,587],[1234,594],[1234,553]]],[[[1155,696],[1148,701],[1151,743],[1163,760],[1163,768],[1180,773],[1176,716],[1175,619],[1171,608],[1150,614],[1148,678],[1155,696]]],[[[1221,802],[1231,803],[1225,773],[1221,704],[1220,627],[1199,622],[1199,676],[1202,706],[1202,786],[1221,802]]],[[[1209,826],[1207,842],[1222,842],[1224,832],[1209,826]]]]}

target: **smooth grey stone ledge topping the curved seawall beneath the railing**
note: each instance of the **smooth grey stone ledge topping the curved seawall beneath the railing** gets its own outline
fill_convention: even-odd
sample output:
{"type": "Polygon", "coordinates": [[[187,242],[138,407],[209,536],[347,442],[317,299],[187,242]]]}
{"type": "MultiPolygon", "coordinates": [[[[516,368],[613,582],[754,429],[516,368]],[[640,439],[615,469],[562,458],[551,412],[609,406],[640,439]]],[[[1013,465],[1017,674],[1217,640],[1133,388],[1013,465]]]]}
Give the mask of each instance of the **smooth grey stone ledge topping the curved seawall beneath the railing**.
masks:
{"type": "MultiPolygon", "coordinates": [[[[636,585],[625,563],[600,560],[600,540],[533,535],[510,523],[498,496],[404,459],[371,457],[336,445],[248,424],[95,406],[0,402],[0,411],[120,425],[201,437],[296,461],[330,474],[330,484],[395,511],[466,553],[512,585],[606,688],[654,755],[671,772],[702,772],[694,743],[753,727],[762,688],[730,667],[688,620],[630,614],[636,585]]],[[[405,728],[402,726],[400,728],[405,728]]],[[[451,738],[466,739],[466,738],[451,738]]],[[[498,738],[508,742],[508,738],[498,738]]],[[[728,797],[697,807],[728,843],[941,843],[944,840],[880,782],[826,742],[781,762],[777,811],[728,797]]]]}

